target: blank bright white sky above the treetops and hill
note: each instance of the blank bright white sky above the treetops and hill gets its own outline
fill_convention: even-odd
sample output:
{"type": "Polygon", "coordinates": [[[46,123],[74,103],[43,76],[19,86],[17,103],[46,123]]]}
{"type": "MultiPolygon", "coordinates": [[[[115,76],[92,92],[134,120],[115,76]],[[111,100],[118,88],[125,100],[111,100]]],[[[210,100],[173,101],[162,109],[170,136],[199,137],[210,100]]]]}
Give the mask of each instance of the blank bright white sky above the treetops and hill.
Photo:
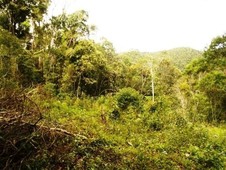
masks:
{"type": "Polygon", "coordinates": [[[177,47],[204,50],[226,33],[226,0],[52,0],[49,16],[77,10],[116,52],[155,52],[177,47]]]}

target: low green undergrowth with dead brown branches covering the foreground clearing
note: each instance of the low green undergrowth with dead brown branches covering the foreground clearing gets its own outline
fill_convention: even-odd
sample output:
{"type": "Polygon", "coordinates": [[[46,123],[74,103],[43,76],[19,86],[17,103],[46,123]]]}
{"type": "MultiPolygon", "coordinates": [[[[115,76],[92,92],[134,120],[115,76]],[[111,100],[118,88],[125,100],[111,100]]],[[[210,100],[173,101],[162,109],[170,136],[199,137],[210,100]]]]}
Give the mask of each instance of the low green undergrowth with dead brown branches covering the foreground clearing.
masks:
{"type": "Polygon", "coordinates": [[[148,99],[134,95],[142,109],[129,100],[119,107],[118,95],[33,94],[43,119],[32,128],[0,124],[0,169],[225,169],[224,125],[192,122],[167,108],[153,111],[148,99]]]}

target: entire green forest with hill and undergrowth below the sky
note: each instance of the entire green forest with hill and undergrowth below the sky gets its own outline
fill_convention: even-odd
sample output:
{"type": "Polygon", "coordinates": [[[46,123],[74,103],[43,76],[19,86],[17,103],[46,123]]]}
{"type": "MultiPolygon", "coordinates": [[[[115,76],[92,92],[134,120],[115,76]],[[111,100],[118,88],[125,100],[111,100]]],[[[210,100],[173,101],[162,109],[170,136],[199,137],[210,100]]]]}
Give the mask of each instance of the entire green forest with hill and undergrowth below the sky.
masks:
{"type": "Polygon", "coordinates": [[[49,5],[0,0],[0,169],[226,169],[226,35],[116,53],[49,5]]]}

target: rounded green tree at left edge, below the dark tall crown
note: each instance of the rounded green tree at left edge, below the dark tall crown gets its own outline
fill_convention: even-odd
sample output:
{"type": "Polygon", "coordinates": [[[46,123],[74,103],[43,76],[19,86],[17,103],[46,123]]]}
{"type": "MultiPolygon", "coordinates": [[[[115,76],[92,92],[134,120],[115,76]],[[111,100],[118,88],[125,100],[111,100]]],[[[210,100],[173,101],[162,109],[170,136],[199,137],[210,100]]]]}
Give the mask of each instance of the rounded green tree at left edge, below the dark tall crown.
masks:
{"type": "Polygon", "coordinates": [[[2,88],[11,85],[29,86],[35,81],[35,70],[29,53],[20,40],[0,28],[0,79],[2,88]]]}

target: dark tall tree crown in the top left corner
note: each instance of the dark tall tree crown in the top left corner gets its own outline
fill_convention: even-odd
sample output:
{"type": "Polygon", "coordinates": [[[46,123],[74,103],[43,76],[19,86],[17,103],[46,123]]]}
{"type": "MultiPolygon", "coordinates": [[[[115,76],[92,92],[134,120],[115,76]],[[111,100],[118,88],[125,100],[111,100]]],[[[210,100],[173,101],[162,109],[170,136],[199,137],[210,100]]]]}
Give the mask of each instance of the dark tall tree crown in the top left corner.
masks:
{"type": "Polygon", "coordinates": [[[38,24],[46,13],[50,0],[0,0],[3,28],[18,38],[29,34],[31,24],[38,24]],[[6,22],[8,20],[8,22],[6,22]]]}

